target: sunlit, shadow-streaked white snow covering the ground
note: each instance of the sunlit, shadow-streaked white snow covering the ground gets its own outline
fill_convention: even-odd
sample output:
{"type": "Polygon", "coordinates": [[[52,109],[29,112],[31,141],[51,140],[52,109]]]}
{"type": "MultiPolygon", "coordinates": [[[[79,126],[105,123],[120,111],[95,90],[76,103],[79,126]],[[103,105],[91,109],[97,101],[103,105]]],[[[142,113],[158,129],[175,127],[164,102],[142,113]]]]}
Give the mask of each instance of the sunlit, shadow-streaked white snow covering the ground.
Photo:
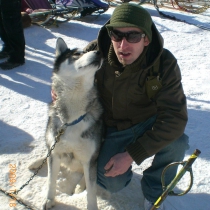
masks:
{"type": "MultiPolygon", "coordinates": [[[[169,210],[209,210],[210,205],[210,31],[193,24],[210,27],[208,11],[204,15],[191,14],[160,8],[166,14],[188,21],[176,22],[160,17],[152,5],[143,7],[152,15],[165,40],[165,48],[178,59],[182,82],[187,97],[189,121],[186,134],[190,137],[190,149],[185,160],[195,149],[201,155],[192,166],[194,183],[190,192],[181,197],[167,197],[165,205],[169,210]]],[[[83,48],[97,37],[100,27],[110,18],[113,8],[100,16],[87,16],[81,20],[62,23],[50,29],[32,25],[24,29],[26,39],[26,63],[11,71],[0,70],[0,188],[7,191],[19,189],[33,175],[28,166],[41,157],[46,157],[45,128],[48,103],[51,101],[50,85],[57,37],[62,37],[70,48],[83,48]],[[14,186],[9,175],[15,167],[14,186]]],[[[2,44],[2,42],[0,42],[2,44]]],[[[143,210],[143,194],[140,179],[143,170],[152,158],[140,166],[133,164],[134,177],[122,191],[106,200],[98,197],[100,210],[143,210]]],[[[62,174],[61,174],[62,175],[62,174]]],[[[61,176],[60,175],[60,176],[61,176]]],[[[41,209],[46,196],[47,167],[44,167],[18,196],[33,209],[41,209]]],[[[182,179],[182,186],[189,181],[189,175],[182,179]]],[[[86,191],[69,196],[59,179],[55,210],[86,209],[86,191]],[[62,189],[62,186],[63,189],[62,189]]],[[[0,209],[25,209],[0,192],[0,209]]]]}

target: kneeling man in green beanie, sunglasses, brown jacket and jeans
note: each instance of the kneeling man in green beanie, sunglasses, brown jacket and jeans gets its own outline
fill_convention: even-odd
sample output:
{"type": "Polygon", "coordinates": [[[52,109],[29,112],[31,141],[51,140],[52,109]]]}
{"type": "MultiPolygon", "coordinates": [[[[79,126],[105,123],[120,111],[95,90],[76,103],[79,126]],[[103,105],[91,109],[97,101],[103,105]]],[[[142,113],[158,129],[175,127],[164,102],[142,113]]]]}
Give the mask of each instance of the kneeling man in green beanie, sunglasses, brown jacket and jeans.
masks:
{"type": "MultiPolygon", "coordinates": [[[[97,181],[107,191],[117,192],[130,182],[132,163],[140,165],[154,155],[141,180],[145,210],[149,210],[162,194],[162,170],[182,161],[188,149],[180,69],[174,56],[163,48],[150,14],[136,4],[124,3],[114,10],[98,39],[85,51],[96,49],[104,56],[96,84],[106,125],[97,181]],[[153,94],[152,89],[159,92],[153,94]]],[[[167,173],[166,184],[176,170],[167,173]]]]}

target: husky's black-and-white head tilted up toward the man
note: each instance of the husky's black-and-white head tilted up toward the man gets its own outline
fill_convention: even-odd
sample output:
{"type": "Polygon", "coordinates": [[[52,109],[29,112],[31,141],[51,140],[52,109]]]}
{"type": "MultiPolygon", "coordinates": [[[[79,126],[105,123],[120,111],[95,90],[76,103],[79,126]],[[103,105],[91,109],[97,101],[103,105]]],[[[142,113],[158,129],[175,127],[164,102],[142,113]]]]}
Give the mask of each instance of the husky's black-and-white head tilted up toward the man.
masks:
{"type": "Polygon", "coordinates": [[[54,73],[62,76],[78,77],[95,74],[101,67],[102,57],[99,51],[84,53],[79,49],[69,49],[62,38],[57,39],[54,73]]]}

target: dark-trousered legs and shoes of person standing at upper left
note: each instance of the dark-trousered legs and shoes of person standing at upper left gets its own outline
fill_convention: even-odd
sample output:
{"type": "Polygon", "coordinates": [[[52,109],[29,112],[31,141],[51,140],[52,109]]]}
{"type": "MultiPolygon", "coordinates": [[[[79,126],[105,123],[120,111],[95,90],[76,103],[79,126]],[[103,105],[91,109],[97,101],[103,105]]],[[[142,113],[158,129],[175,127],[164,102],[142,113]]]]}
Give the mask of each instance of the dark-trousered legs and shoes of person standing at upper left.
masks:
{"type": "Polygon", "coordinates": [[[0,0],[0,38],[3,47],[0,59],[2,70],[13,69],[25,63],[25,38],[21,20],[20,0],[0,0]]]}

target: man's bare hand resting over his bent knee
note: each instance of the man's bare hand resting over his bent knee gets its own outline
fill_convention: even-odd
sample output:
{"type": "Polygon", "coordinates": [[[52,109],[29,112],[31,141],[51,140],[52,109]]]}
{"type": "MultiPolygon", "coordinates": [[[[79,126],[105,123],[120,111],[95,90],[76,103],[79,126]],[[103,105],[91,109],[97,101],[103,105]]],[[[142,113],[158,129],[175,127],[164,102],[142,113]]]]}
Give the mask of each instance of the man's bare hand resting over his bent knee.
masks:
{"type": "Polygon", "coordinates": [[[105,176],[115,177],[124,174],[131,166],[133,159],[128,152],[119,153],[113,156],[105,165],[105,176]]]}

